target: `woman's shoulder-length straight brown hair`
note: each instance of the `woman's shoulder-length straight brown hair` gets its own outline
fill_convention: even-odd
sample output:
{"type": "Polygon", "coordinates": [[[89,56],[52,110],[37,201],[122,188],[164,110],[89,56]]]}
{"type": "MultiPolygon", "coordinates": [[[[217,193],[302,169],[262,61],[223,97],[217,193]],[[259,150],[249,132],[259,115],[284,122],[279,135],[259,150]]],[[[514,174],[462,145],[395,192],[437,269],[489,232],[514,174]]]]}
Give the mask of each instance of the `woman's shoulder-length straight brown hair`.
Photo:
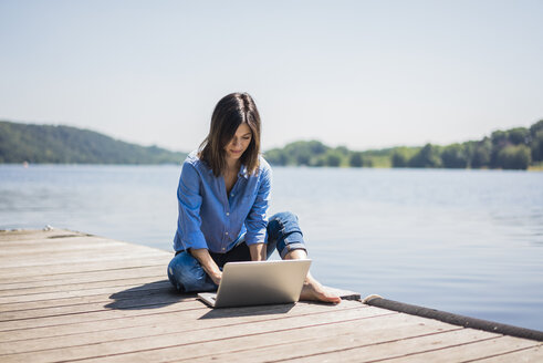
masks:
{"type": "Polygon", "coordinates": [[[240,160],[249,174],[253,174],[258,169],[260,154],[259,111],[248,93],[230,93],[215,106],[209,134],[199,149],[200,159],[213,170],[215,176],[221,175],[224,170],[224,147],[230,143],[242,123],[251,128],[252,137],[240,160]]]}

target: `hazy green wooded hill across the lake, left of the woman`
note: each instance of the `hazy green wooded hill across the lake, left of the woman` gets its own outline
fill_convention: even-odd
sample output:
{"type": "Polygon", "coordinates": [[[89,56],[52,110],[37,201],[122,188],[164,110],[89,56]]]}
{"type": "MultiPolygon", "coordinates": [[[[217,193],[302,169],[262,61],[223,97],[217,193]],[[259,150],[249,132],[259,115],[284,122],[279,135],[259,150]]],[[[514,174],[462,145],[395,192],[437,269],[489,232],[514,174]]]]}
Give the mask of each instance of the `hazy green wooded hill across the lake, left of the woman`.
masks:
{"type": "Polygon", "coordinates": [[[139,146],[70,126],[0,121],[0,164],[173,164],[184,153],[139,146]]]}

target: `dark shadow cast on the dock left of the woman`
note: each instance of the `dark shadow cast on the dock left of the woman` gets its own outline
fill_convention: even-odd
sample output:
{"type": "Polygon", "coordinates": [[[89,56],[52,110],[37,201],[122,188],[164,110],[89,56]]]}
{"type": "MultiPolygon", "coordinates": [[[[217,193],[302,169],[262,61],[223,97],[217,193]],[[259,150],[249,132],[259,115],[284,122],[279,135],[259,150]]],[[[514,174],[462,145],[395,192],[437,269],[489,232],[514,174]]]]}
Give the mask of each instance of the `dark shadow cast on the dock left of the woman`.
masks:
{"type": "Polygon", "coordinates": [[[192,300],[194,293],[180,294],[168,280],[155,281],[118,291],[109,295],[113,302],[104,305],[115,310],[158,309],[184,300],[192,300]]]}

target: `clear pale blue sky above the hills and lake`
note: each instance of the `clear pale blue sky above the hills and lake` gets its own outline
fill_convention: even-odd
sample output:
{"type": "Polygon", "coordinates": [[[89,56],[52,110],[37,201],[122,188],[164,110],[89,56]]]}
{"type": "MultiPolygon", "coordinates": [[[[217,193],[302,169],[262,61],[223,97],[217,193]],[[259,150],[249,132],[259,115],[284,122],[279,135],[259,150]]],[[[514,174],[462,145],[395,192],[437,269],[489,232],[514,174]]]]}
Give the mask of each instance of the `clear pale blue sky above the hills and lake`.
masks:
{"type": "Polygon", "coordinates": [[[0,0],[0,120],[190,151],[244,91],[264,149],[479,139],[543,118],[542,19],[542,0],[0,0]]]}

